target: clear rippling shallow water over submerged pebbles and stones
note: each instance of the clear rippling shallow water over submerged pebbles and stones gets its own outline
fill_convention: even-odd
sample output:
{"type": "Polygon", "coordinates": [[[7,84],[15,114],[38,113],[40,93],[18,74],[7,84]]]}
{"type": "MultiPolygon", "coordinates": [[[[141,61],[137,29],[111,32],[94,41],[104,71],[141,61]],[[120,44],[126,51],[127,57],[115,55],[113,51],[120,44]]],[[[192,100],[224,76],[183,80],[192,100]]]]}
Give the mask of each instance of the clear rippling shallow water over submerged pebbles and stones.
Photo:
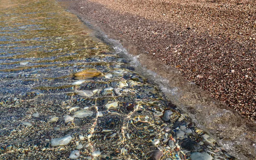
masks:
{"type": "Polygon", "coordinates": [[[55,1],[0,7],[0,159],[235,159],[55,1]]]}

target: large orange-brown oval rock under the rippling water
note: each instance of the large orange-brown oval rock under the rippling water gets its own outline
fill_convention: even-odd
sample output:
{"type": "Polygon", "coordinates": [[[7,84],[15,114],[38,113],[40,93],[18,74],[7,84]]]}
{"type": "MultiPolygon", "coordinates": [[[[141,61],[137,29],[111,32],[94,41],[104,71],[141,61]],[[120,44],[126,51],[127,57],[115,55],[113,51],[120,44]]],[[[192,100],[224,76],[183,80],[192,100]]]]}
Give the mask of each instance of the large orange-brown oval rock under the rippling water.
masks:
{"type": "Polygon", "coordinates": [[[87,69],[74,74],[76,80],[87,80],[101,74],[97,69],[87,69]]]}

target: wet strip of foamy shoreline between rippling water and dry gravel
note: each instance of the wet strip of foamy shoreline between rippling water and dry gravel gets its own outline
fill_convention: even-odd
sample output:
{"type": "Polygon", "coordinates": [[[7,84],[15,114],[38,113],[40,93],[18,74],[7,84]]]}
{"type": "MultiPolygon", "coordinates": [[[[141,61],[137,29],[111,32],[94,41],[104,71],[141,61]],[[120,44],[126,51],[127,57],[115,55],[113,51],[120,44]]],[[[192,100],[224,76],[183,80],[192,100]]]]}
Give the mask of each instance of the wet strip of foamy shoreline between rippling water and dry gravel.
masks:
{"type": "MultiPolygon", "coordinates": [[[[161,77],[169,80],[168,86],[172,87],[183,87],[188,86],[187,88],[183,87],[182,91],[183,95],[180,97],[175,97],[175,99],[171,99],[172,102],[176,103],[177,106],[180,106],[183,111],[189,114],[190,117],[194,118],[198,124],[202,124],[201,128],[207,130],[209,133],[213,135],[213,137],[218,137],[218,139],[222,139],[219,142],[221,145],[224,145],[233,141],[234,146],[231,146],[232,151],[239,151],[240,154],[243,154],[247,158],[254,159],[256,153],[253,147],[253,144],[256,142],[255,134],[255,123],[253,121],[248,121],[242,118],[235,109],[231,109],[223,102],[218,102],[209,94],[207,94],[202,89],[198,89],[197,86],[191,85],[187,80],[183,79],[183,76],[180,75],[176,69],[173,69],[170,66],[166,66],[157,58],[150,56],[150,54],[142,49],[138,45],[134,45],[132,40],[126,37],[125,34],[122,34],[119,31],[114,31],[113,28],[110,28],[108,24],[104,22],[100,22],[97,19],[93,19],[90,16],[87,16],[85,13],[79,13],[79,5],[76,4],[79,1],[64,1],[62,2],[62,6],[68,8],[68,10],[72,13],[75,13],[82,21],[89,21],[96,28],[100,28],[100,30],[104,31],[110,38],[118,40],[128,52],[134,56],[138,57],[140,63],[145,66],[147,69],[156,72],[161,77]],[[189,100],[195,98],[194,102],[188,102],[186,100],[189,97],[189,100]],[[183,101],[183,104],[180,103],[183,101]],[[201,106],[200,106],[201,105],[201,106]],[[207,107],[211,107],[212,109],[209,111],[207,107]],[[199,110],[199,111],[198,111],[199,110]],[[215,110],[215,111],[214,111],[215,110]],[[219,113],[221,115],[219,115],[219,113]],[[209,122],[209,120],[205,120],[205,116],[209,114],[210,120],[214,120],[214,122],[209,122]],[[193,116],[194,115],[194,116],[193,116]],[[202,117],[200,117],[203,115],[202,117]],[[226,128],[220,130],[221,127],[225,126],[226,128]],[[216,132],[217,131],[217,132],[216,132]],[[245,134],[245,135],[244,135],[245,134]],[[239,148],[238,148],[239,147],[239,148]]],[[[89,3],[89,2],[88,2],[89,3]]],[[[90,3],[87,7],[103,7],[97,3],[90,3]]],[[[99,8],[93,8],[94,11],[99,8]]],[[[102,8],[101,8],[102,9],[102,8]]],[[[89,8],[88,8],[89,10],[89,8]]],[[[101,11],[104,13],[107,9],[102,9],[101,11]]],[[[117,14],[117,13],[116,13],[117,14]]],[[[121,14],[119,16],[122,16],[121,14]]],[[[165,93],[167,97],[172,98],[172,95],[168,95],[165,93]]],[[[226,146],[230,147],[230,146],[226,146]]],[[[227,149],[227,150],[230,150],[227,149]]],[[[233,152],[234,153],[234,152],[233,152]]]]}

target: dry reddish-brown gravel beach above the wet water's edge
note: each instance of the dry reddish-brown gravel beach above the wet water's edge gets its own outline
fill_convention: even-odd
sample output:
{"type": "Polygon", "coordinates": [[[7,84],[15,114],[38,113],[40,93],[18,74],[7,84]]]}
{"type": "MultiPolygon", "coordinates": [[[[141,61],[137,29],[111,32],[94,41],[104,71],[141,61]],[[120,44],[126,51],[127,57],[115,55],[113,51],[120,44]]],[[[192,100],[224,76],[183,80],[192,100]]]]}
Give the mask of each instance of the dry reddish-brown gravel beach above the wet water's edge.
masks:
{"type": "Polygon", "coordinates": [[[79,0],[76,10],[256,120],[256,3],[79,0]]]}

